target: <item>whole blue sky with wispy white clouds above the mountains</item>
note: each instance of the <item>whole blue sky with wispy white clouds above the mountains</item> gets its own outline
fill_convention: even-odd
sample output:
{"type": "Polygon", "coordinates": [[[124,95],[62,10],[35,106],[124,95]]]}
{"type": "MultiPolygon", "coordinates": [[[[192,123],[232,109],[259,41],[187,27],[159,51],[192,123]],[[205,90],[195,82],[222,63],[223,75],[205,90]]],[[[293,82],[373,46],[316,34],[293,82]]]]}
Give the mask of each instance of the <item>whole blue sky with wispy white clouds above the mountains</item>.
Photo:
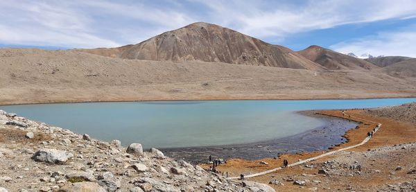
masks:
{"type": "Polygon", "coordinates": [[[416,57],[416,0],[0,0],[0,18],[0,46],[122,46],[205,21],[295,51],[416,57]]]}

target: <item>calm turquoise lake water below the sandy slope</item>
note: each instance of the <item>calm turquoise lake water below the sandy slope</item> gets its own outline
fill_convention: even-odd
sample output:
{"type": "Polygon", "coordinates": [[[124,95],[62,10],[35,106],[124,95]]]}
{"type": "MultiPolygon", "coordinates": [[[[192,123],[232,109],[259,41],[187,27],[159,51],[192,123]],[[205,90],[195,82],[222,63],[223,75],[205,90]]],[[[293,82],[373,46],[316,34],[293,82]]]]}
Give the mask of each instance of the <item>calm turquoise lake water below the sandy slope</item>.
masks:
{"type": "Polygon", "coordinates": [[[399,105],[416,98],[316,101],[169,101],[0,106],[98,139],[144,148],[220,146],[279,139],[324,125],[301,110],[399,105]]]}

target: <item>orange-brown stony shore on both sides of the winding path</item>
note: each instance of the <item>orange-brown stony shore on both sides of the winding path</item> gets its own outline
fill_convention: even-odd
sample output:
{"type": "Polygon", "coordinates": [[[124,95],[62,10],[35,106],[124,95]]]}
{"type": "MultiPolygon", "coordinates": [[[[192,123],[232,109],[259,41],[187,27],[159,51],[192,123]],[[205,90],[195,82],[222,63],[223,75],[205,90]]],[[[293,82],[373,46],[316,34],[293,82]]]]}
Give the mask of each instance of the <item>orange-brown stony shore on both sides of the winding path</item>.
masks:
{"type": "MultiPolygon", "coordinates": [[[[397,185],[398,183],[408,180],[408,177],[413,178],[412,175],[409,176],[406,173],[404,173],[404,175],[403,173],[400,173],[401,176],[397,176],[396,172],[399,174],[399,171],[395,171],[395,168],[397,166],[412,168],[416,156],[414,155],[414,152],[412,152],[414,149],[410,148],[408,149],[409,151],[403,151],[401,150],[401,147],[394,148],[394,146],[401,146],[403,143],[416,141],[416,126],[414,124],[374,116],[369,114],[367,110],[346,111],[347,114],[354,117],[343,116],[340,110],[328,110],[319,113],[361,122],[357,129],[352,129],[345,133],[345,137],[349,139],[349,142],[343,143],[340,146],[335,146],[331,148],[331,150],[361,143],[367,136],[367,132],[372,130],[376,125],[376,123],[371,123],[369,121],[382,123],[383,128],[377,132],[376,137],[373,137],[369,142],[365,143],[365,145],[349,150],[348,152],[324,157],[323,159],[318,159],[315,162],[306,164],[306,166],[295,166],[275,173],[254,177],[250,180],[266,184],[269,184],[269,182],[272,182],[273,180],[277,180],[279,181],[279,184],[270,184],[270,186],[277,191],[314,191],[315,188],[320,189],[320,191],[333,191],[338,189],[340,191],[350,191],[347,190],[349,189],[349,186],[353,186],[356,190],[359,189],[358,191],[376,191],[383,187],[388,187],[388,184],[397,185]],[[361,119],[368,121],[363,121],[361,119]],[[397,159],[395,154],[400,154],[400,158],[397,159]],[[367,158],[367,156],[372,158],[367,158]],[[351,171],[340,168],[341,171],[337,174],[318,174],[320,168],[324,167],[326,164],[332,164],[328,162],[333,161],[343,162],[343,164],[347,164],[347,166],[351,166],[351,164],[360,164],[361,166],[365,166],[365,168],[363,168],[364,171],[360,169],[358,172],[356,172],[356,170],[351,171]],[[309,182],[307,182],[305,186],[299,186],[292,184],[293,180],[290,178],[293,180],[306,180],[309,182]]],[[[217,169],[223,173],[228,172],[230,176],[240,175],[241,173],[248,175],[281,166],[283,164],[283,159],[288,159],[289,163],[293,163],[297,162],[298,159],[318,156],[322,154],[322,152],[324,151],[286,154],[281,155],[277,159],[264,158],[253,161],[232,159],[229,160],[227,164],[218,166],[217,169]],[[260,162],[267,162],[268,164],[260,164],[260,162]]],[[[207,167],[208,165],[203,166],[207,167]]]]}

